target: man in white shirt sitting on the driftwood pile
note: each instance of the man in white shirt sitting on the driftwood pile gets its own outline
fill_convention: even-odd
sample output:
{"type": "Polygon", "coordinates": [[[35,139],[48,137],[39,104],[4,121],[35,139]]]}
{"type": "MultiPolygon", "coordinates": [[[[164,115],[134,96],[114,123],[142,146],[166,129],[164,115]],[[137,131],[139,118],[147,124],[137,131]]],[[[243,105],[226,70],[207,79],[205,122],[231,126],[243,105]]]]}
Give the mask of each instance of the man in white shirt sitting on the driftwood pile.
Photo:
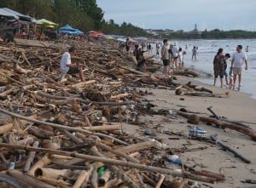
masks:
{"type": "Polygon", "coordinates": [[[68,49],[68,52],[65,52],[61,56],[61,72],[67,73],[70,75],[79,73],[79,77],[82,82],[84,82],[84,74],[83,74],[83,68],[76,66],[76,64],[71,63],[71,55],[74,55],[76,53],[76,48],[71,47],[68,49]]]}

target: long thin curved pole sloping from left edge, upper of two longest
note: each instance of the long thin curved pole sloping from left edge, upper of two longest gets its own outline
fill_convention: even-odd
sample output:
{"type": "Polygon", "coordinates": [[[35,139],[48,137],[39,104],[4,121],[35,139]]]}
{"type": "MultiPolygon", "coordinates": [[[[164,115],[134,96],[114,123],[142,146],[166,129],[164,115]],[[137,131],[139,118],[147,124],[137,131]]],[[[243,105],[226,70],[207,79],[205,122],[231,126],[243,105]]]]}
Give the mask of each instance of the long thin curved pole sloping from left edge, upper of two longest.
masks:
{"type": "Polygon", "coordinates": [[[107,134],[93,133],[93,132],[90,132],[88,130],[84,130],[83,128],[72,128],[72,127],[68,127],[68,126],[65,126],[65,125],[60,125],[60,124],[56,124],[56,123],[52,123],[52,122],[43,122],[43,121],[35,120],[35,119],[29,118],[29,117],[24,117],[24,116],[21,116],[19,114],[15,114],[15,113],[10,112],[10,111],[6,111],[2,108],[0,108],[0,111],[3,112],[4,114],[8,114],[9,116],[18,117],[20,119],[24,119],[24,120],[29,121],[29,122],[36,122],[38,124],[49,125],[49,126],[54,127],[54,128],[64,128],[64,129],[71,130],[71,131],[78,131],[78,132],[82,132],[84,134],[96,135],[96,136],[100,136],[100,137],[102,136],[102,137],[108,138],[110,140],[115,140],[119,144],[127,145],[127,143],[125,143],[124,141],[118,140],[118,139],[116,139],[112,136],[109,136],[107,134]]]}

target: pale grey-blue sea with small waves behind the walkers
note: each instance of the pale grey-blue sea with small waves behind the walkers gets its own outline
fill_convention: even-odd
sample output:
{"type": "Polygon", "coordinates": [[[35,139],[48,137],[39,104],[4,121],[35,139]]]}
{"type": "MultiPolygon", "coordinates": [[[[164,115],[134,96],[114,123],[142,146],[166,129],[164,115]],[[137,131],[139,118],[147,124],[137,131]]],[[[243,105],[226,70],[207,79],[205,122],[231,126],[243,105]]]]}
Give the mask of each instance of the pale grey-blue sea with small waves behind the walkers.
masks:
{"type": "MultiPolygon", "coordinates": [[[[174,43],[174,41],[169,41],[174,43]]],[[[213,58],[217,54],[218,48],[224,48],[224,54],[232,55],[236,52],[236,46],[241,44],[243,50],[249,46],[247,52],[248,70],[243,69],[241,78],[241,92],[252,94],[253,99],[256,99],[256,39],[230,39],[230,40],[191,40],[191,41],[177,41],[177,45],[185,49],[188,46],[186,53],[183,56],[184,66],[199,71],[211,73],[213,75],[213,58]],[[197,60],[191,60],[192,48],[198,46],[197,60]]],[[[228,60],[227,71],[230,70],[231,60],[228,60]]],[[[213,84],[213,77],[201,77],[199,80],[203,83],[213,84]]],[[[224,82],[225,83],[225,82],[224,82]]],[[[238,85],[238,81],[236,86],[238,85]]],[[[217,87],[220,86],[219,79],[217,80],[217,87]]]]}

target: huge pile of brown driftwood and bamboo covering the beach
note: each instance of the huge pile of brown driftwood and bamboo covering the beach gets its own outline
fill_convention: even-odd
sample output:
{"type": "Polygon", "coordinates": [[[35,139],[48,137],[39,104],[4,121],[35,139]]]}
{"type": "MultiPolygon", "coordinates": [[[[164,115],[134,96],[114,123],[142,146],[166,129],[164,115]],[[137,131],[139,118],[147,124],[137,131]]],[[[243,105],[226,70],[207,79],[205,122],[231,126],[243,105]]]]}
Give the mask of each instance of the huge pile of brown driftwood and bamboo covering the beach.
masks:
{"type": "Polygon", "coordinates": [[[136,123],[143,109],[145,93],[131,87],[177,84],[135,71],[119,49],[72,45],[86,82],[61,77],[63,48],[0,47],[0,187],[189,187],[188,179],[224,179],[157,167],[158,141],[122,133],[121,122],[136,123]]]}

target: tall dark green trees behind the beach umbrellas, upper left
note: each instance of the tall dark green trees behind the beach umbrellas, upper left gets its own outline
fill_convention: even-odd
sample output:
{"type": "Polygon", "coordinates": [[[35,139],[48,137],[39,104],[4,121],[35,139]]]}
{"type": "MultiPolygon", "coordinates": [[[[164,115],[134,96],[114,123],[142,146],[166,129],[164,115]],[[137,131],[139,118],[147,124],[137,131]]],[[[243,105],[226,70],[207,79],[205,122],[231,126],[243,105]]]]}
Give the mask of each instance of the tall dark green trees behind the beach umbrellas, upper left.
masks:
{"type": "Polygon", "coordinates": [[[100,30],[131,37],[147,35],[131,23],[119,25],[114,20],[104,20],[104,12],[96,0],[0,0],[0,7],[14,9],[35,19],[51,20],[59,26],[69,24],[82,31],[100,30]]]}

